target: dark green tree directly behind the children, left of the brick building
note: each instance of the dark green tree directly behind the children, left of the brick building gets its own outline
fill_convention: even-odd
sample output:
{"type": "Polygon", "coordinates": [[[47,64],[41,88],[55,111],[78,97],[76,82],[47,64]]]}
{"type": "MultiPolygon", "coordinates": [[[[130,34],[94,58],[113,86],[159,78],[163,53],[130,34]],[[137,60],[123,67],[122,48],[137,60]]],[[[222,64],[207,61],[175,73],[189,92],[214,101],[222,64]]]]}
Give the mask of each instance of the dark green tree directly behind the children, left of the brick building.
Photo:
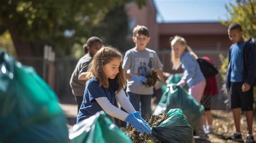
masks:
{"type": "Polygon", "coordinates": [[[92,35],[102,36],[105,44],[117,47],[122,52],[134,46],[132,37],[127,37],[131,32],[124,5],[116,6],[110,10],[103,22],[91,31],[92,35]]]}

